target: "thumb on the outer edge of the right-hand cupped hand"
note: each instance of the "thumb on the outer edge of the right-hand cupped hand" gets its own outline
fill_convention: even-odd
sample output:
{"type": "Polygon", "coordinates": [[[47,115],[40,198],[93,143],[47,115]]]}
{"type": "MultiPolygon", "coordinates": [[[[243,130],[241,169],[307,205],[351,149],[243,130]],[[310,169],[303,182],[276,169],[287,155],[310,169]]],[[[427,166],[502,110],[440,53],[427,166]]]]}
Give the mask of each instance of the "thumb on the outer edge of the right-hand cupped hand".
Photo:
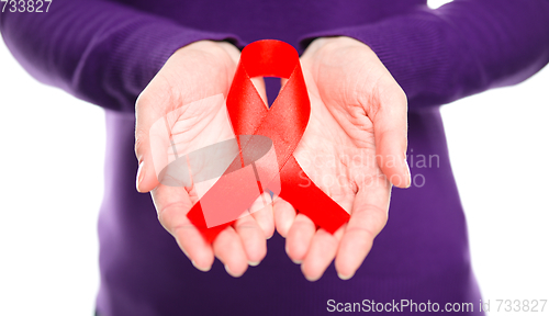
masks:
{"type": "Polygon", "coordinates": [[[376,110],[368,111],[373,122],[378,165],[393,185],[408,188],[406,94],[389,74],[380,79],[378,87],[381,88],[374,99],[379,104],[371,104],[370,109],[376,110]]]}

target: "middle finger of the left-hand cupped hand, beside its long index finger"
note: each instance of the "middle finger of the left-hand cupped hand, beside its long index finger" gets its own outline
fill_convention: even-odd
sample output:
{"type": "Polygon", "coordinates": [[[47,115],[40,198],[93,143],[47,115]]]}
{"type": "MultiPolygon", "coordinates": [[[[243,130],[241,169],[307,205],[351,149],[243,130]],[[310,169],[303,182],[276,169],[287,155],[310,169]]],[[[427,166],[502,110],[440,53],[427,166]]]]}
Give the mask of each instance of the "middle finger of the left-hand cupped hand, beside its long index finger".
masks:
{"type": "Polygon", "coordinates": [[[238,278],[246,272],[246,269],[248,269],[248,258],[240,237],[236,234],[233,226],[228,226],[221,232],[212,246],[215,257],[225,264],[225,270],[228,274],[238,278]]]}

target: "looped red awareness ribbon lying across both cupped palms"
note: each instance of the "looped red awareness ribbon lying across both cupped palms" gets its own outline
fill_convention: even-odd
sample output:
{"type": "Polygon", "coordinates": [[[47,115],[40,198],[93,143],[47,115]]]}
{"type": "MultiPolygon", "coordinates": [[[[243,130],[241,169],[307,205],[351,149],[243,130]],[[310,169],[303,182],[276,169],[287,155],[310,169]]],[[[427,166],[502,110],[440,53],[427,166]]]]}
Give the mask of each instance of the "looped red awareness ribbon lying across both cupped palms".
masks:
{"type": "MultiPolygon", "coordinates": [[[[330,234],[348,222],[349,214],[309,179],[292,155],[307,126],[311,102],[299,54],[290,44],[264,40],[247,45],[240,54],[240,61],[226,104],[235,135],[262,135],[272,139],[280,171],[280,198],[330,234]],[[250,80],[254,77],[288,79],[270,109],[267,109],[254,87],[250,80]],[[304,182],[310,184],[304,185],[304,182]]],[[[246,157],[243,157],[242,154],[246,144],[238,145],[240,149],[239,162],[242,162],[239,167],[244,167],[250,161],[245,161],[246,157]]],[[[237,185],[238,179],[227,180],[233,181],[233,187],[227,187],[228,182],[225,182],[225,185],[220,183],[223,182],[223,179],[224,177],[221,177],[220,181],[206,192],[206,195],[211,192],[220,193],[227,190],[237,192],[245,189],[237,185]],[[222,188],[222,190],[215,190],[216,187],[222,188]]],[[[228,199],[220,201],[222,208],[223,203],[239,203],[231,192],[225,193],[224,196],[219,196],[220,200],[228,199]]],[[[235,215],[232,218],[237,218],[238,214],[235,215]]],[[[208,228],[200,201],[187,216],[209,242],[212,242],[223,229],[235,222],[208,228]]]]}

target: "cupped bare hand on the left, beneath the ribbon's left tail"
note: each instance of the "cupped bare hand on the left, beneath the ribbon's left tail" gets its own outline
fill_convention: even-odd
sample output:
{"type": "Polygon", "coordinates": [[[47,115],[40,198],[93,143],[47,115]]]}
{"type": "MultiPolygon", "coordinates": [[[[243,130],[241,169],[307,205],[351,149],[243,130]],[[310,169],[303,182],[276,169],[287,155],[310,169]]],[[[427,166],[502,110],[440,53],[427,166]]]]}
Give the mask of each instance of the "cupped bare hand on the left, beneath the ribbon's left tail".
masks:
{"type": "MultiPolygon", "coordinates": [[[[199,200],[194,183],[161,184],[158,169],[172,161],[172,155],[234,137],[223,95],[227,95],[238,58],[239,50],[224,42],[200,41],[177,50],[141,93],[135,131],[137,190],[150,191],[161,225],[197,269],[210,270],[217,257],[233,276],[242,275],[248,264],[256,266],[266,256],[266,238],[274,230],[270,206],[240,217],[210,245],[187,217],[199,200]],[[166,123],[168,139],[152,133],[157,122],[166,123]]],[[[265,95],[262,81],[255,84],[265,95]]]]}

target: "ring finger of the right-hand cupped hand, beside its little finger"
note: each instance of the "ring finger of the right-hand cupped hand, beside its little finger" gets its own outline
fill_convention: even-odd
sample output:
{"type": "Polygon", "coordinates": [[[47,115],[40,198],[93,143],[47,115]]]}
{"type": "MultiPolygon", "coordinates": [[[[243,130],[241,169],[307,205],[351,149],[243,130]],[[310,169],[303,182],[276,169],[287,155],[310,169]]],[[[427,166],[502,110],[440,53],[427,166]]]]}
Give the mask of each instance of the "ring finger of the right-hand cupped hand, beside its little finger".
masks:
{"type": "Polygon", "coordinates": [[[311,240],[316,232],[313,221],[303,214],[298,214],[285,239],[285,252],[290,259],[299,264],[305,258],[311,240]]]}

